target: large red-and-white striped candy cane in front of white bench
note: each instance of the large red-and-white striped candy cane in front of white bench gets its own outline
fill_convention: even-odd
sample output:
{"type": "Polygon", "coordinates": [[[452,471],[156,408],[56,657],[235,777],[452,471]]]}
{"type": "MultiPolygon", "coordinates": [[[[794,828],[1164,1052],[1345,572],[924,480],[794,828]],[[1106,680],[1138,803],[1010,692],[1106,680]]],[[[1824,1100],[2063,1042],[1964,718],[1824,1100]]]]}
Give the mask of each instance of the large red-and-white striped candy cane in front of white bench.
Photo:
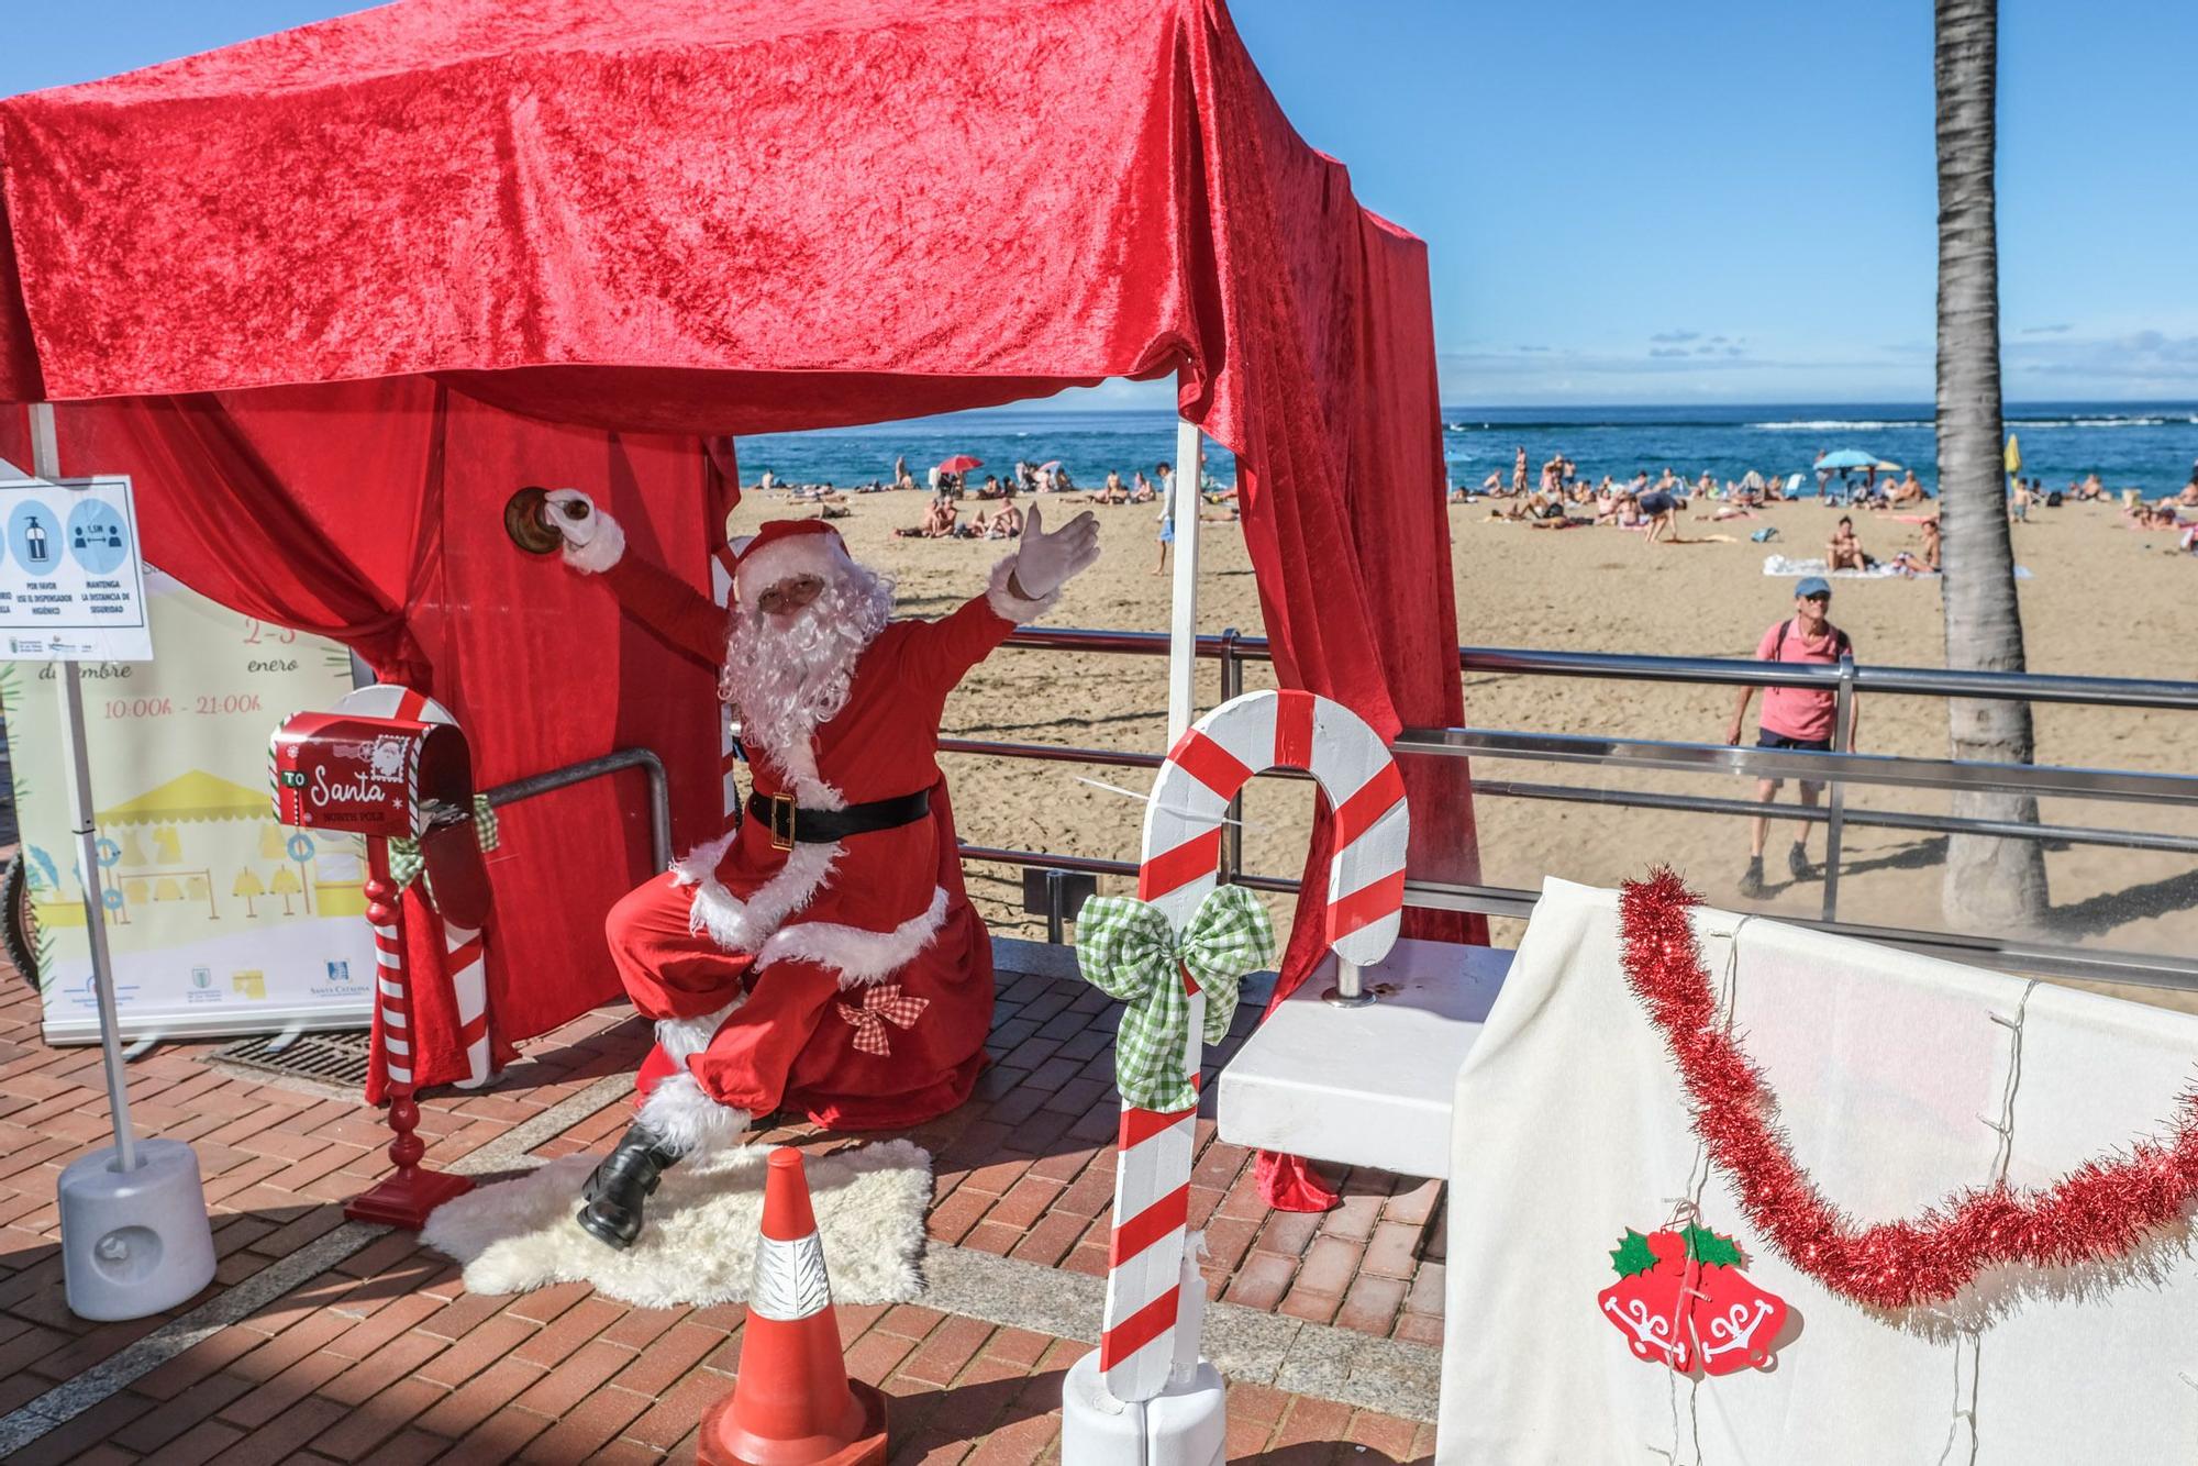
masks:
{"type": "MultiPolygon", "coordinates": [[[[1350,708],[1312,692],[1246,692],[1198,719],[1167,752],[1145,809],[1136,895],[1183,930],[1213,890],[1229,800],[1259,769],[1306,769],[1328,793],[1336,853],[1328,866],[1325,936],[1367,967],[1389,954],[1405,908],[1411,815],[1389,749],[1350,708]]],[[[1185,1073],[1198,1084],[1205,993],[1189,978],[1185,1073]]],[[[1198,1363],[1205,1284],[1187,1257],[1191,1136],[1198,1110],[1156,1114],[1123,1103],[1114,1171],[1099,1369],[1117,1400],[1150,1400],[1198,1363]]]]}

